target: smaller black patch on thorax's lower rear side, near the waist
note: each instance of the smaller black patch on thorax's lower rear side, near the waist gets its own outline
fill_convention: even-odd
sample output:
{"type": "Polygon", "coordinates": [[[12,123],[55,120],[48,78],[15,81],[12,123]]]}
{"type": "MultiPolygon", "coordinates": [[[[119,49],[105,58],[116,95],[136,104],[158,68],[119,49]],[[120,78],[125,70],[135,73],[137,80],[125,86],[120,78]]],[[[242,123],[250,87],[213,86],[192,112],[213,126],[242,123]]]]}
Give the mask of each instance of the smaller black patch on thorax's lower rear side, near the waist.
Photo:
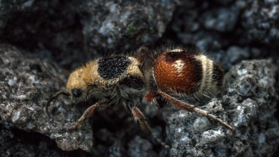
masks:
{"type": "Polygon", "coordinates": [[[144,86],[143,78],[128,75],[119,81],[119,85],[126,85],[130,88],[141,90],[144,86]]]}

